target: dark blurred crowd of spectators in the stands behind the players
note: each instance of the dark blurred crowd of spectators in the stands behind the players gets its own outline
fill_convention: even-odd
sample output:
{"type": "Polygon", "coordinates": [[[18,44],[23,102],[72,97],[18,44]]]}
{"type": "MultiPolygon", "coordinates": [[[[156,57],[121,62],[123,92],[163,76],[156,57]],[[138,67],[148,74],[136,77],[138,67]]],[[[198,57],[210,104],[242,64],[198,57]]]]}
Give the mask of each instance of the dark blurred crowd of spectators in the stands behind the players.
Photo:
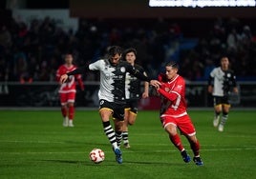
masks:
{"type": "MultiPolygon", "coordinates": [[[[191,36],[186,36],[179,22],[164,19],[144,20],[144,24],[141,20],[81,19],[78,30],[63,30],[50,17],[33,19],[30,24],[12,19],[0,31],[0,81],[54,81],[66,51],[72,51],[75,64],[83,66],[104,56],[112,45],[136,48],[138,63],[152,77],[173,59],[180,62],[187,80],[205,80],[226,54],[242,80],[255,79],[254,35],[251,27],[238,19],[217,19],[206,35],[193,37],[194,46],[183,50],[182,43],[191,36]]],[[[98,75],[88,71],[83,79],[95,81],[98,75]]]]}

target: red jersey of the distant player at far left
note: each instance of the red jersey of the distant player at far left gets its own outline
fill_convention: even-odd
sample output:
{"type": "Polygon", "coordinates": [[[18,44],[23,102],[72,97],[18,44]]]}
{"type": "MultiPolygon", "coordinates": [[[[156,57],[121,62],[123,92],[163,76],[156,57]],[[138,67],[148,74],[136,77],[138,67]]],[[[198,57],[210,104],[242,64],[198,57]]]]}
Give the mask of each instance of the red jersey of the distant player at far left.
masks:
{"type": "MultiPolygon", "coordinates": [[[[76,67],[75,65],[72,65],[71,67],[68,67],[67,65],[61,65],[58,70],[56,71],[56,80],[59,81],[59,78],[62,74],[66,74],[67,72],[70,72],[72,70],[75,70],[76,67]]],[[[80,88],[83,90],[83,82],[81,78],[81,74],[75,74],[75,75],[70,75],[69,79],[67,80],[66,83],[61,84],[58,92],[59,93],[69,93],[69,92],[76,92],[76,84],[75,84],[75,79],[78,82],[78,85],[80,88]]]]}

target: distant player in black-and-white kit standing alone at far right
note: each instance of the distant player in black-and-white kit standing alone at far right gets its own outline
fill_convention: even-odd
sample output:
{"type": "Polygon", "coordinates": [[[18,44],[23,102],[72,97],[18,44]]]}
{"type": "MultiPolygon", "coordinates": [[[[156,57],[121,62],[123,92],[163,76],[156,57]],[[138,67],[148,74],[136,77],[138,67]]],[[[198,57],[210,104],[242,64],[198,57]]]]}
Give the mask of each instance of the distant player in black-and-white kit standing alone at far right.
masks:
{"type": "Polygon", "coordinates": [[[228,112],[231,107],[228,97],[231,91],[238,93],[236,76],[234,71],[229,69],[228,58],[223,56],[221,58],[221,66],[213,69],[210,72],[208,79],[208,92],[213,96],[213,106],[215,111],[213,126],[219,126],[219,131],[224,131],[224,124],[228,118],[228,112]],[[222,112],[223,115],[220,122],[222,112]]]}

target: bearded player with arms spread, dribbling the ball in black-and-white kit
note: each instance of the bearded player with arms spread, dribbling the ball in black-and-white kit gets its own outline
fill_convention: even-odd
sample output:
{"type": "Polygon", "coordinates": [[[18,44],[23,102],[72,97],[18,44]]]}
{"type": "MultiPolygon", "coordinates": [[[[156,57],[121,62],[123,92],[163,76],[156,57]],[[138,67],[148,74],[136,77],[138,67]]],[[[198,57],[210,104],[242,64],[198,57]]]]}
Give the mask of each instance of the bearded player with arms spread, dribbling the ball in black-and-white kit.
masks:
{"type": "Polygon", "coordinates": [[[84,73],[87,70],[100,71],[100,85],[98,90],[99,115],[104,132],[116,154],[118,164],[122,163],[122,153],[117,144],[120,144],[125,108],[125,76],[126,72],[135,75],[140,80],[148,81],[157,87],[160,82],[150,80],[147,76],[135,70],[128,62],[120,61],[122,49],[112,46],[108,50],[108,57],[97,60],[89,66],[84,66],[63,74],[60,82],[65,82],[70,75],[84,73]],[[114,118],[115,131],[110,124],[110,117],[114,118]]]}

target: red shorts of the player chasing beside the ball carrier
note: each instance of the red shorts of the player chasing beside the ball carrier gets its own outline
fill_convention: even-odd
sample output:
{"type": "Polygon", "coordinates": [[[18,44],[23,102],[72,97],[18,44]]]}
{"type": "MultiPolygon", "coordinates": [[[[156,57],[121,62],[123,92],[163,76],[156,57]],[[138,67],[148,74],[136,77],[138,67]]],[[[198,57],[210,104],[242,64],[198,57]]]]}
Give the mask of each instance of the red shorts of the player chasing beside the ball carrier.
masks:
{"type": "Polygon", "coordinates": [[[196,129],[188,115],[181,117],[164,116],[160,117],[162,128],[166,128],[168,125],[174,125],[181,130],[184,135],[195,135],[196,129]]]}

